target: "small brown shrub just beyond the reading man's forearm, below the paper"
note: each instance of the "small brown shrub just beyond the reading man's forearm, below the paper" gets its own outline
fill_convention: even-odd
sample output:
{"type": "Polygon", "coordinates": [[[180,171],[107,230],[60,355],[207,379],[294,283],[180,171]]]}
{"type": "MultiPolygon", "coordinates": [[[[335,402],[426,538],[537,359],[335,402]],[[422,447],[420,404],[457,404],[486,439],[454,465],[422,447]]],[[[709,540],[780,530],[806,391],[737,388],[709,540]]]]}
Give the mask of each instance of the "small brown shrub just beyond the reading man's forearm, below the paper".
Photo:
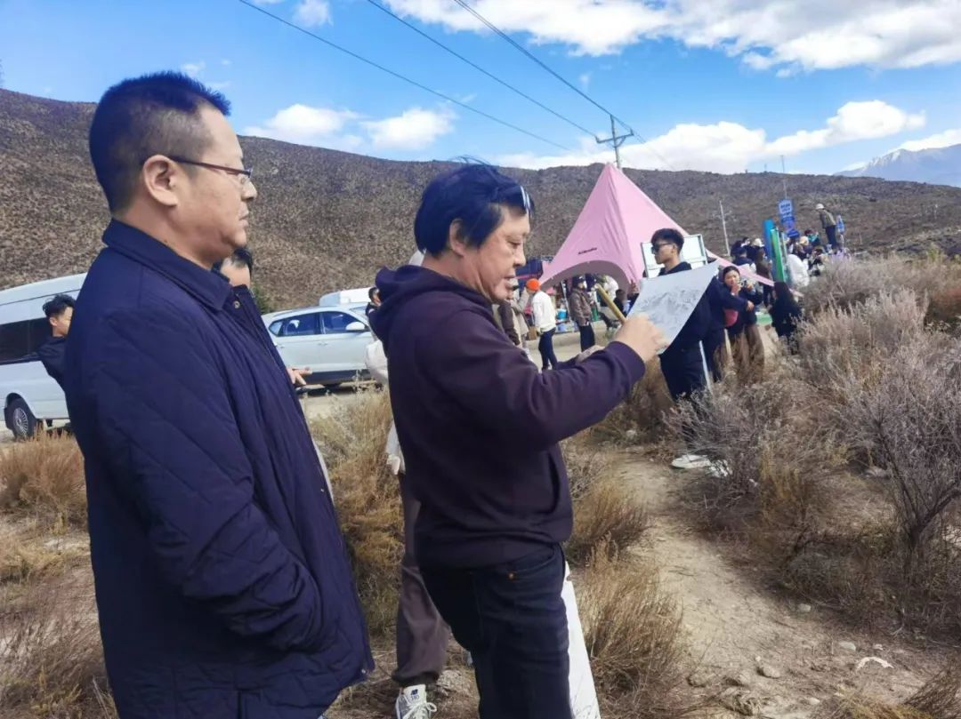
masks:
{"type": "Polygon", "coordinates": [[[653,359],[628,398],[593,427],[591,434],[607,442],[652,442],[663,434],[665,417],[673,407],[660,369],[660,359],[653,359]]]}

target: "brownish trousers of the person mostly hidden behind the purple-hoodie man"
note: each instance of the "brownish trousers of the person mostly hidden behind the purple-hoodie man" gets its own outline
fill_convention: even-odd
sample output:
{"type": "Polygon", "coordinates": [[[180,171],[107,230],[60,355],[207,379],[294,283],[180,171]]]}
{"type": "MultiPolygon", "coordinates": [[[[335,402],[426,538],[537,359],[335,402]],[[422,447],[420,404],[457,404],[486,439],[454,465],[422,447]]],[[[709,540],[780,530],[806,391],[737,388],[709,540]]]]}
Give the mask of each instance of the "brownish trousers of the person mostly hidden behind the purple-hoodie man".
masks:
{"type": "Polygon", "coordinates": [[[404,506],[404,559],[401,560],[401,592],[397,603],[397,670],[393,679],[403,687],[437,681],[447,661],[450,631],[433,606],[414,558],[414,524],[420,502],[398,476],[404,506]]]}

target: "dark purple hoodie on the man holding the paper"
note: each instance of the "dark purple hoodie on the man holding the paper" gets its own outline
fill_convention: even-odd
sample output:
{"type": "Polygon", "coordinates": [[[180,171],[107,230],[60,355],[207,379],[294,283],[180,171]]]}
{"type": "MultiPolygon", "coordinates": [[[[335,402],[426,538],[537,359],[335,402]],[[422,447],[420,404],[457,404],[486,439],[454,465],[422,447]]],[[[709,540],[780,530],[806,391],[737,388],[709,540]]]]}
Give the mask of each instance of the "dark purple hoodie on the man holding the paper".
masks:
{"type": "Polygon", "coordinates": [[[540,373],[507,339],[491,303],[419,267],[382,270],[371,317],[390,399],[421,502],[424,566],[474,567],[570,537],[571,492],[557,443],[604,419],[644,375],[613,343],[579,365],[540,373]]]}

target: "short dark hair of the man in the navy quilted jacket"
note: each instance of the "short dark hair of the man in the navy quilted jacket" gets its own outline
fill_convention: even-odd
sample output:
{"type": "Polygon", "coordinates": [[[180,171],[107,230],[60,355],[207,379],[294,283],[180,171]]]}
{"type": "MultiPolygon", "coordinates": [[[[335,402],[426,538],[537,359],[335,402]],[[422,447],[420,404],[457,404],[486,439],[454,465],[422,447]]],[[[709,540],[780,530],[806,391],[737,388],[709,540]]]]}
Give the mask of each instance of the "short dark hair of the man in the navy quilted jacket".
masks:
{"type": "Polygon", "coordinates": [[[93,113],[89,145],[111,212],[130,204],[148,157],[203,155],[210,142],[200,121],[204,106],[225,115],[231,111],[222,94],[178,72],[124,80],[104,93],[93,113]]]}

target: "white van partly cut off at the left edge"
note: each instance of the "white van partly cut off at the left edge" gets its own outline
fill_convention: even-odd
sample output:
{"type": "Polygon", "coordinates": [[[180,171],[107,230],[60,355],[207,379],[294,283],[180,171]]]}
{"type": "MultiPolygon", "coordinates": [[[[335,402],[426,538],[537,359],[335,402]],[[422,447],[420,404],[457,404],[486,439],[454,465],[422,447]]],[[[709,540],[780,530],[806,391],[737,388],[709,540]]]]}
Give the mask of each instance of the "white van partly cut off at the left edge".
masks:
{"type": "Polygon", "coordinates": [[[43,303],[55,295],[76,298],[86,274],[45,279],[0,291],[0,402],[17,439],[32,437],[38,424],[67,418],[60,385],[47,374],[37,349],[50,339],[43,303]]]}

